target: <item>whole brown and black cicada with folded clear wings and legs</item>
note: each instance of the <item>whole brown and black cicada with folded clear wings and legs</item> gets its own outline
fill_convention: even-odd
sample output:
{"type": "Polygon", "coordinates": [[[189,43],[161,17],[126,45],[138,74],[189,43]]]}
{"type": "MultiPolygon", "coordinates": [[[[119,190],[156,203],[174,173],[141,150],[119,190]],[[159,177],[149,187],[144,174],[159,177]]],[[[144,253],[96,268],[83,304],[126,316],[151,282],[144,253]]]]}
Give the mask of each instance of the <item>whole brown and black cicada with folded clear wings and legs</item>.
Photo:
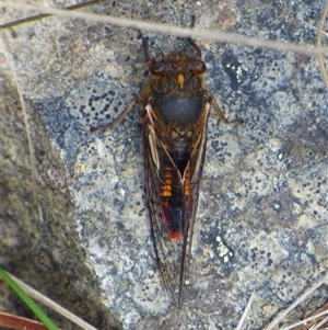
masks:
{"type": "MultiPolygon", "coordinates": [[[[183,301],[187,259],[206,157],[210,105],[227,123],[203,82],[206,64],[192,38],[194,54],[172,52],[153,58],[142,37],[150,71],[143,92],[114,122],[92,130],[114,127],[142,103],[145,198],[154,248],[165,287],[176,305],[183,301]]],[[[232,122],[242,122],[234,120],[232,122]]]]}

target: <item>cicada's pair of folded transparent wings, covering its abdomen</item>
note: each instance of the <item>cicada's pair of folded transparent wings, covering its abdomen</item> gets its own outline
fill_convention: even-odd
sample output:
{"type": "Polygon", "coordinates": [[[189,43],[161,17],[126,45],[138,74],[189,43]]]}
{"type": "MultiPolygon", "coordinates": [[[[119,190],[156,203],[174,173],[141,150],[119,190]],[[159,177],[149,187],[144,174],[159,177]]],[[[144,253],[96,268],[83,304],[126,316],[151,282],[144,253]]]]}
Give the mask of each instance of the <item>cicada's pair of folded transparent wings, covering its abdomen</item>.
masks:
{"type": "Polygon", "coordinates": [[[147,205],[164,285],[174,303],[180,305],[204,161],[208,104],[202,122],[198,123],[197,136],[189,146],[190,157],[183,173],[157,134],[155,118],[148,106],[143,117],[147,205]],[[172,191],[174,194],[171,195],[172,191]],[[180,234],[177,227],[183,228],[180,234]]]}

